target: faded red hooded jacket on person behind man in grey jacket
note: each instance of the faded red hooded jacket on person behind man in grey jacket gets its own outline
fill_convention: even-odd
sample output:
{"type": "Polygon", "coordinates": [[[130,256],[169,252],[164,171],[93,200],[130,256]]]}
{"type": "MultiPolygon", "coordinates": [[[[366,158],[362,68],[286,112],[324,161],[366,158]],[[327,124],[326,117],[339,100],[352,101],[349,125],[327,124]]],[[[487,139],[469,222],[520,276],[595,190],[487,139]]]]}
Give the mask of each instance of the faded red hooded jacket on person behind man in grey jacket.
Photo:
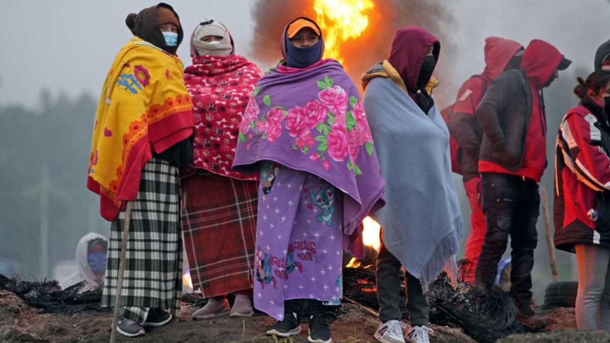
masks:
{"type": "Polygon", "coordinates": [[[461,148],[458,160],[464,182],[478,175],[479,149],[483,133],[476,121],[475,110],[487,87],[506,68],[515,53],[523,48],[512,40],[489,37],[485,40],[485,63],[483,73],[468,79],[458,92],[453,105],[453,115],[448,123],[451,138],[461,148]]]}

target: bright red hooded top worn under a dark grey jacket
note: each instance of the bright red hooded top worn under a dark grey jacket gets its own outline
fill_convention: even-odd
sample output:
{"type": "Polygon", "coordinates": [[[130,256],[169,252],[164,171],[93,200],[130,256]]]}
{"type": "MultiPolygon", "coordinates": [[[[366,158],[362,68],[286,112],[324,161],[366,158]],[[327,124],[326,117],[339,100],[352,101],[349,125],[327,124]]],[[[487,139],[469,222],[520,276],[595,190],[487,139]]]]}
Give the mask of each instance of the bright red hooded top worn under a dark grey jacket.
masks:
{"type": "MultiPolygon", "coordinates": [[[[481,173],[505,173],[524,176],[540,182],[547,165],[547,123],[544,112],[544,102],[539,91],[553,77],[564,56],[553,46],[543,40],[532,40],[523,52],[521,69],[525,73],[531,92],[531,115],[526,125],[525,144],[520,157],[520,167],[508,168],[493,161],[481,158],[479,171],[481,173]]],[[[519,93],[515,94],[518,95],[519,93]]],[[[513,96],[515,96],[513,95],[513,96]]],[[[508,95],[505,95],[505,98],[508,95]]],[[[493,102],[490,102],[493,104],[493,102]]],[[[503,103],[498,101],[497,103],[503,103]]],[[[493,106],[493,105],[492,105],[493,106]]],[[[503,109],[495,108],[495,112],[503,109]]],[[[479,112],[477,110],[477,112],[479,112]]],[[[486,111],[484,111],[486,112],[486,111]]],[[[481,118],[479,117],[479,121],[481,118]]],[[[521,134],[520,132],[505,132],[504,135],[521,134]]]]}

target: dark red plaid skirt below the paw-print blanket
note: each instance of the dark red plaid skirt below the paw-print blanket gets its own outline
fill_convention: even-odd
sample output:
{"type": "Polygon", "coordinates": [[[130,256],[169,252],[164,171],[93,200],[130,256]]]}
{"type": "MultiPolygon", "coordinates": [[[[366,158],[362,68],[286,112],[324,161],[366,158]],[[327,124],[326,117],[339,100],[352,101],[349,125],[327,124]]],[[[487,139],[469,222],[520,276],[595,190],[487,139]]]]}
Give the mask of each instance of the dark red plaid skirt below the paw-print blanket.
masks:
{"type": "Polygon", "coordinates": [[[182,231],[204,298],[253,287],[257,181],[199,171],[182,179],[182,231]]]}

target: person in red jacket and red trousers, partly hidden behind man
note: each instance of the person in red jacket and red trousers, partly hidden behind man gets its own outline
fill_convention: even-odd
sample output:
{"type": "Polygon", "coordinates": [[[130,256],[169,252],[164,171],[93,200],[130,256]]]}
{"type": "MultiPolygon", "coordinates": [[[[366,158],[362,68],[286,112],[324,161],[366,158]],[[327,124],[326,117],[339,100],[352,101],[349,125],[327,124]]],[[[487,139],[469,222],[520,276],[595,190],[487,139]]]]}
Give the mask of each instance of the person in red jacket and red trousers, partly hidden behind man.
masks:
{"type": "Polygon", "coordinates": [[[523,46],[512,40],[489,37],[485,40],[483,73],[468,79],[458,92],[449,122],[449,131],[460,146],[459,164],[464,176],[464,189],[470,202],[470,234],[466,240],[462,281],[475,282],[476,263],[485,240],[485,215],[481,209],[481,176],[479,175],[479,148],[483,133],[476,121],[475,110],[487,87],[505,70],[519,68],[523,46]]]}

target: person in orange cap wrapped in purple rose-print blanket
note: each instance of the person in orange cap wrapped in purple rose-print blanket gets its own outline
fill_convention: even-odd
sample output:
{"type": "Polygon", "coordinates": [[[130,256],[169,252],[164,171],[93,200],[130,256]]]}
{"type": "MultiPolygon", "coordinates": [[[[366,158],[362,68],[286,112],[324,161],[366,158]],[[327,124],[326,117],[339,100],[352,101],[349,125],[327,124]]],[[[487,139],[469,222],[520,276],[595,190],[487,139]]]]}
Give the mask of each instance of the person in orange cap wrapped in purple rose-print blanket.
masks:
{"type": "Polygon", "coordinates": [[[321,59],[320,28],[297,18],[282,60],[260,79],[240,126],[233,168],[260,172],[254,306],[279,322],[268,334],[301,331],[331,342],[323,301],[342,297],[342,251],[362,256],[361,223],[383,206],[383,186],[356,86],[336,60],[321,59]]]}

